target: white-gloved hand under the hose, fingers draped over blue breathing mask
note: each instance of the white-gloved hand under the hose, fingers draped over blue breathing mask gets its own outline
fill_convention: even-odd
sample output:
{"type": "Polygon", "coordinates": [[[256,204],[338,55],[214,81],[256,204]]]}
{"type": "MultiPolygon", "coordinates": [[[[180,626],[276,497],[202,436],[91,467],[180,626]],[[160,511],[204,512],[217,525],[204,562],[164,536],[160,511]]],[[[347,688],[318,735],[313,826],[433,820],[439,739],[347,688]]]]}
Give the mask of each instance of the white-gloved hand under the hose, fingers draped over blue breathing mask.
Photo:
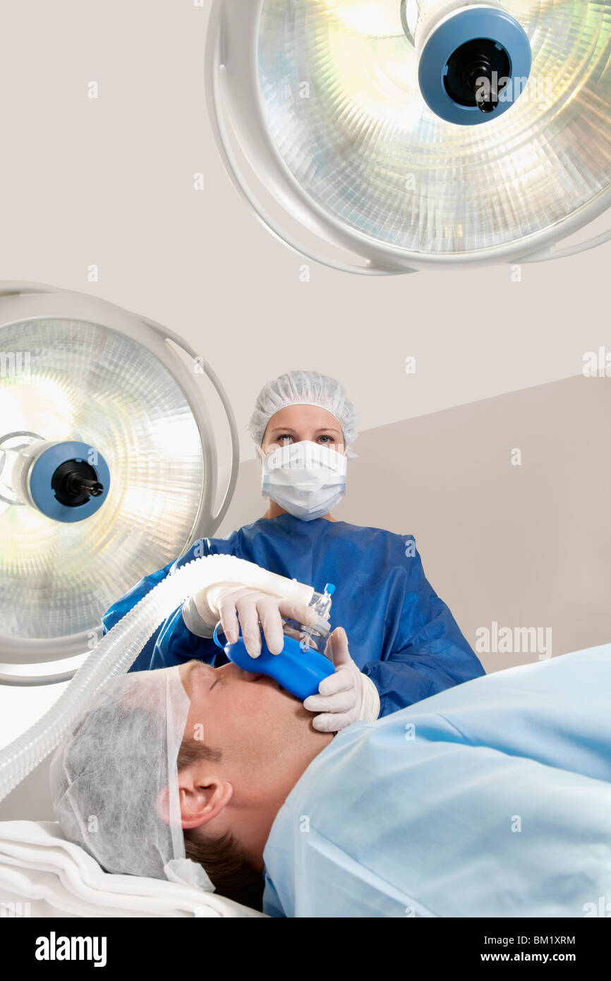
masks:
{"type": "Polygon", "coordinates": [[[282,599],[251,586],[215,583],[193,594],[192,599],[201,620],[209,628],[222,621],[229,644],[237,641],[241,627],[244,644],[251,657],[258,657],[261,653],[259,623],[272,654],[280,654],[284,645],[282,617],[311,627],[319,624],[318,614],[307,603],[282,599]]]}

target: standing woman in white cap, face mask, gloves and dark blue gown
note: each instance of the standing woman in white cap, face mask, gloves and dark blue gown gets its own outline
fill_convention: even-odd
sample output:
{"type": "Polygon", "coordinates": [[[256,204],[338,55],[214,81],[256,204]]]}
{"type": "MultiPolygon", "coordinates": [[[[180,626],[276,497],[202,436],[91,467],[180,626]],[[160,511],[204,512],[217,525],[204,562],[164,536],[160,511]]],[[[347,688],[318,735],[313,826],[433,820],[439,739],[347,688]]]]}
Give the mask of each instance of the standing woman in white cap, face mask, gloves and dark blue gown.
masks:
{"type": "MultiPolygon", "coordinates": [[[[326,652],[335,672],[304,707],[313,726],[338,732],[484,674],[444,602],[427,581],[411,535],[337,521],[331,508],[345,493],[355,454],[354,407],[344,388],[319,372],[293,371],[269,382],[248,429],[262,461],[262,518],[225,539],[195,542],[181,557],[145,576],[102,616],[109,631],[160,580],[185,562],[223,552],[312,586],[335,586],[333,630],[326,652]],[[348,649],[349,638],[349,649],[348,649]]],[[[193,658],[215,666],[227,657],[212,640],[221,619],[229,643],[241,628],[251,656],[261,629],[272,653],[282,647],[282,618],[306,622],[294,603],[252,588],[227,586],[208,603],[202,590],[163,623],[130,670],[171,667],[193,658]],[[261,626],[260,626],[261,625],[261,626]]]]}

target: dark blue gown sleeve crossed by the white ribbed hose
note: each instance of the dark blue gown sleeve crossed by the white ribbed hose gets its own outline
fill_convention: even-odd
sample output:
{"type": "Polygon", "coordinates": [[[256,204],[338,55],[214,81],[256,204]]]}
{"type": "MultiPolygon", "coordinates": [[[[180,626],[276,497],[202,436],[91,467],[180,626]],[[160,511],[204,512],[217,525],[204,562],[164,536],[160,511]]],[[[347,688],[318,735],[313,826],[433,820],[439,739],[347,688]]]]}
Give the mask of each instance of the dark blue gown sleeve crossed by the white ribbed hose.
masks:
{"type": "MultiPolygon", "coordinates": [[[[201,550],[202,542],[200,541],[198,544],[201,550]]],[[[118,599],[117,602],[113,603],[102,615],[103,636],[140,601],[142,596],[149,593],[158,583],[161,583],[173,568],[178,569],[192,557],[189,550],[181,558],[173,559],[163,569],[158,569],[157,572],[144,576],[125,595],[118,599]]],[[[214,641],[203,637],[196,637],[187,630],[186,624],[182,619],[182,604],[180,604],[159,625],[152,637],[142,647],[129,671],[148,671],[155,668],[175,667],[183,663],[183,661],[193,659],[204,660],[210,663],[215,660],[217,655],[221,655],[218,663],[227,660],[223,651],[215,645],[214,641]]]]}

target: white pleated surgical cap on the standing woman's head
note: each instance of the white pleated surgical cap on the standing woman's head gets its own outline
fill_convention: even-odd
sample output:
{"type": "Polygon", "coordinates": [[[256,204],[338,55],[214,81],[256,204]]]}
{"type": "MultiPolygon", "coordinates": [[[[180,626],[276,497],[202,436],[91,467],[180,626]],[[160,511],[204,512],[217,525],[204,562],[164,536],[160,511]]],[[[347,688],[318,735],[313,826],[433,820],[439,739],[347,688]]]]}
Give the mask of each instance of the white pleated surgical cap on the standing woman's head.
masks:
{"type": "Polygon", "coordinates": [[[263,442],[272,416],[287,405],[320,405],[331,412],[341,426],[346,446],[357,438],[356,425],[360,417],[339,382],[318,371],[289,371],[268,382],[257,396],[248,431],[258,446],[263,442]]]}

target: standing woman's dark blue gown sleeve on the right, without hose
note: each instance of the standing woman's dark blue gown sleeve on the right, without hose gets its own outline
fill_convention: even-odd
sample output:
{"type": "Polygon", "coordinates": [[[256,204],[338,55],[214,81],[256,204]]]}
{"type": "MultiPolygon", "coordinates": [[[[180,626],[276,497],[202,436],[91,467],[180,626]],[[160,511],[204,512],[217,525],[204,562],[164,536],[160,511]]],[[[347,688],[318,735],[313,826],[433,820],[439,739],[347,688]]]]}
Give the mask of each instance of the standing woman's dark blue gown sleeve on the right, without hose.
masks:
{"type": "Polygon", "coordinates": [[[399,609],[395,623],[387,619],[384,623],[388,653],[382,651],[382,657],[361,668],[380,694],[380,718],[485,674],[448,607],[427,580],[416,549],[407,583],[399,587],[395,582],[390,587],[395,600],[399,588],[402,604],[390,601],[386,607],[386,617],[393,607],[399,609]]]}

